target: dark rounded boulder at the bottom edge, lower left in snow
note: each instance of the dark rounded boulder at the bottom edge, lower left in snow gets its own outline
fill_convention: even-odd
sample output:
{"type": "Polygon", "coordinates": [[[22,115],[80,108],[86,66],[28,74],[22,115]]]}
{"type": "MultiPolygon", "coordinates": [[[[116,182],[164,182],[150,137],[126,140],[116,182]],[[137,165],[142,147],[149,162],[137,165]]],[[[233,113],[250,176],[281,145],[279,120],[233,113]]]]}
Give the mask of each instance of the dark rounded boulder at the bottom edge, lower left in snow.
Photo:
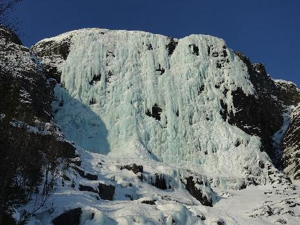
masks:
{"type": "Polygon", "coordinates": [[[53,225],[79,225],[82,216],[82,209],[75,208],[68,212],[63,212],[55,219],[52,220],[53,225]]]}

